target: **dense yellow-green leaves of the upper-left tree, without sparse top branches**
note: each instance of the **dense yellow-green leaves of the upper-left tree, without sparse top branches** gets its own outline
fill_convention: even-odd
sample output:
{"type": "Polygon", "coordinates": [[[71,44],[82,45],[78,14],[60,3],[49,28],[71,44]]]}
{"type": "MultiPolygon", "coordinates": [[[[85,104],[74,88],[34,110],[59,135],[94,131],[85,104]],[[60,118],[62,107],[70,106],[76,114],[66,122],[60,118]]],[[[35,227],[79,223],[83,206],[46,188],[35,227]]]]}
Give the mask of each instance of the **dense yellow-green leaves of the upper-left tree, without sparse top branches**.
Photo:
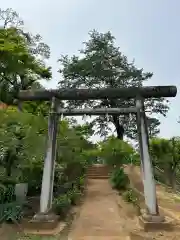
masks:
{"type": "Polygon", "coordinates": [[[26,39],[19,34],[16,28],[0,29],[1,68],[4,75],[24,74],[26,70],[44,71],[41,65],[30,54],[26,39]],[[25,67],[24,67],[25,66],[25,67]]]}

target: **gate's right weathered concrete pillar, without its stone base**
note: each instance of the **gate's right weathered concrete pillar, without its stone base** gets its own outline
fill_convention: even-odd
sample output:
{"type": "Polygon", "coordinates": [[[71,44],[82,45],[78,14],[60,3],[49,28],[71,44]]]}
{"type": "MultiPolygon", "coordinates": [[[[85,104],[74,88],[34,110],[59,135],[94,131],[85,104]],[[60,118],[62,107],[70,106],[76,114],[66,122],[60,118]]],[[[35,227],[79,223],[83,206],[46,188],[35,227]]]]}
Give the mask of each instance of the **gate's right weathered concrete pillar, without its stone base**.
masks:
{"type": "Polygon", "coordinates": [[[143,100],[136,100],[136,107],[139,109],[137,113],[137,126],[140,143],[142,179],[144,184],[145,203],[150,215],[159,215],[156,198],[156,185],[153,175],[152,163],[149,155],[148,132],[146,128],[146,116],[143,109],[143,100]]]}

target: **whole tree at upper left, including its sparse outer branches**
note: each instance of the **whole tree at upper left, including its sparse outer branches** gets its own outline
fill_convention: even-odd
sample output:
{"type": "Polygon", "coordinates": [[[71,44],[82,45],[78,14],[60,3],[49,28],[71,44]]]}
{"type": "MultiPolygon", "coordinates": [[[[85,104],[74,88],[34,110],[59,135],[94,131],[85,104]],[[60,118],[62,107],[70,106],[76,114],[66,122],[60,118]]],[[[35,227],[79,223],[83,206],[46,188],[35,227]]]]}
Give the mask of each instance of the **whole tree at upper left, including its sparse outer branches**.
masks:
{"type": "Polygon", "coordinates": [[[23,21],[12,9],[0,9],[0,20],[0,100],[12,104],[19,90],[51,78],[51,68],[44,63],[50,51],[40,35],[23,30],[23,21]]]}

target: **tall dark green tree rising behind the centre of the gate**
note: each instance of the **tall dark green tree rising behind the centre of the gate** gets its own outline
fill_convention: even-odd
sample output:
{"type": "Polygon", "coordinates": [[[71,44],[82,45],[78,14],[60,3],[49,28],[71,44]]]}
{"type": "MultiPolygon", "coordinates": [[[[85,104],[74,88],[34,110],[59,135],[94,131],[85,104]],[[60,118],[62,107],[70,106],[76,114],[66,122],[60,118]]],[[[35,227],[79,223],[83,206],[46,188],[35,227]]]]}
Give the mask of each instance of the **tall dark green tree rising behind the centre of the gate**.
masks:
{"type": "MultiPolygon", "coordinates": [[[[63,78],[59,87],[69,88],[104,88],[104,87],[129,87],[142,86],[152,77],[152,73],[138,69],[134,62],[128,62],[120,48],[115,46],[115,38],[110,32],[105,34],[97,31],[89,33],[90,39],[84,43],[79,56],[62,56],[59,60],[61,67],[59,72],[63,78]]],[[[76,107],[130,107],[134,106],[134,100],[101,100],[101,101],[70,101],[69,106],[76,107]]],[[[145,109],[165,115],[168,106],[163,98],[147,99],[145,109]]],[[[117,137],[123,139],[126,135],[136,131],[135,116],[99,116],[93,120],[97,127],[97,133],[106,135],[112,131],[109,123],[115,127],[117,137]],[[129,133],[130,132],[130,133],[129,133]]],[[[132,136],[131,136],[132,137],[132,136]]]]}

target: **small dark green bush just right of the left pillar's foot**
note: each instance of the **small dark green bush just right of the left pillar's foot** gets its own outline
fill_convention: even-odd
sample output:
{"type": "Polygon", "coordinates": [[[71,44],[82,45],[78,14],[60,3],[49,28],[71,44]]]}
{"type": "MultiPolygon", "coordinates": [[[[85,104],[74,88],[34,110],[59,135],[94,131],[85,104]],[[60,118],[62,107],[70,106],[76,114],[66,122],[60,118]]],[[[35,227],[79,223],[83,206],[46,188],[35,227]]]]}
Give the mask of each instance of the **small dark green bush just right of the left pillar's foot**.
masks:
{"type": "Polygon", "coordinates": [[[63,194],[54,199],[54,210],[56,214],[60,215],[62,218],[66,216],[70,207],[71,207],[71,199],[68,194],[63,194]]]}

